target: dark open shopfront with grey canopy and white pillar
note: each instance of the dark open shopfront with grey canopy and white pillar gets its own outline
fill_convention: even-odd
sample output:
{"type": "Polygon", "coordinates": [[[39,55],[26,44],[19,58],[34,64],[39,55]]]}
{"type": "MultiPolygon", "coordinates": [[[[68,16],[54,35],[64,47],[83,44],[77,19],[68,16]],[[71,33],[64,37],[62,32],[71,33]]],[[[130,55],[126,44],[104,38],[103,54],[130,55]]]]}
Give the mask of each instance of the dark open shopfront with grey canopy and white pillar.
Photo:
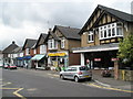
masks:
{"type": "Polygon", "coordinates": [[[91,47],[81,47],[73,53],[81,53],[81,65],[89,65],[93,69],[114,67],[119,44],[106,44],[91,47]]]}

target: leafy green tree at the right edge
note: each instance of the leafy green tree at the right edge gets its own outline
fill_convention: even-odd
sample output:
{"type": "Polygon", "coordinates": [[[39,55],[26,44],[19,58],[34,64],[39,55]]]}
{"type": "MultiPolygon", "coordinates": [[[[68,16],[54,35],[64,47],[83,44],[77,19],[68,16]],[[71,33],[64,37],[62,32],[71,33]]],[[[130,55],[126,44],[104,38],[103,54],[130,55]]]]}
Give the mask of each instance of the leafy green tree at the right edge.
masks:
{"type": "Polygon", "coordinates": [[[120,40],[117,57],[125,65],[133,65],[133,32],[130,33],[124,40],[120,40]]]}

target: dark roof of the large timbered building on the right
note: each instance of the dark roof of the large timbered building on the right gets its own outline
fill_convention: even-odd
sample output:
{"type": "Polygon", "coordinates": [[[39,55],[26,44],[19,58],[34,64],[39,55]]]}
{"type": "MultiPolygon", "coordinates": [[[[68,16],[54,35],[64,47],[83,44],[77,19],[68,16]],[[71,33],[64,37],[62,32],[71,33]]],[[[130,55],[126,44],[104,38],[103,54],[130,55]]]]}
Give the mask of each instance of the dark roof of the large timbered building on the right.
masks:
{"type": "Polygon", "coordinates": [[[93,11],[93,13],[91,14],[91,16],[89,18],[89,20],[86,21],[86,23],[84,24],[84,26],[81,29],[81,31],[79,32],[79,34],[82,34],[83,30],[91,22],[92,18],[94,16],[94,14],[96,13],[98,10],[103,10],[104,13],[109,13],[110,15],[112,15],[115,19],[121,20],[123,22],[131,22],[131,23],[133,23],[133,15],[132,14],[129,14],[129,13],[125,13],[125,12],[122,12],[122,11],[119,11],[119,10],[115,10],[115,9],[108,8],[108,7],[99,4],[95,8],[95,10],[93,11]]]}

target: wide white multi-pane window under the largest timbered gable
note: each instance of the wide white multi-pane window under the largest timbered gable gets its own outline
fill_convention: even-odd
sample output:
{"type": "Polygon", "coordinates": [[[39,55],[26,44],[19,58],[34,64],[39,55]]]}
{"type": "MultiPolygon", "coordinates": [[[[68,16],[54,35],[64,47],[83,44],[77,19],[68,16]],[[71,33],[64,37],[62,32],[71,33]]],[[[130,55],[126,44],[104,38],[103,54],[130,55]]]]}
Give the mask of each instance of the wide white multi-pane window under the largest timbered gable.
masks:
{"type": "Polygon", "coordinates": [[[100,40],[123,36],[121,23],[112,23],[99,28],[100,40]]]}

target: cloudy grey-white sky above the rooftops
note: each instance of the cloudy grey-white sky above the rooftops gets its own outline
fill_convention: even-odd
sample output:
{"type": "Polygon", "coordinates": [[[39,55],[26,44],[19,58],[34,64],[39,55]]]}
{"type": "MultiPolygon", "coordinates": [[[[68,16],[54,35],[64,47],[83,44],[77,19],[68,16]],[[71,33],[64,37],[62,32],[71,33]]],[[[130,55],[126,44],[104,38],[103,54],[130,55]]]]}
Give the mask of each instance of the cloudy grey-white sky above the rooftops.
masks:
{"type": "Polygon", "coordinates": [[[0,50],[38,40],[54,25],[81,29],[98,4],[131,13],[133,0],[0,0],[0,50]]]}

